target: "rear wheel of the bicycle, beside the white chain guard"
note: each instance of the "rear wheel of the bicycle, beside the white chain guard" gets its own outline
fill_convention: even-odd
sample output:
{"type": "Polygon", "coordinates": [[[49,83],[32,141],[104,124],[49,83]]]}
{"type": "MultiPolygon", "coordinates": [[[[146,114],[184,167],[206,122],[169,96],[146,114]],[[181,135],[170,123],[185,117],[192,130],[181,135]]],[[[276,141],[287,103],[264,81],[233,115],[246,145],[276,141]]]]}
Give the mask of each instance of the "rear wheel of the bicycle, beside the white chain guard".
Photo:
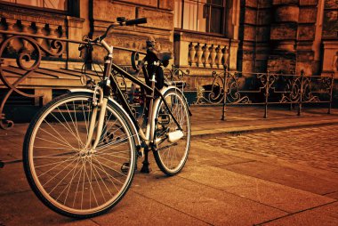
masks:
{"type": "Polygon", "coordinates": [[[185,165],[190,148],[190,117],[187,101],[184,95],[173,88],[164,94],[165,102],[181,125],[183,137],[179,141],[170,142],[168,133],[174,132],[178,126],[165,107],[164,101],[156,106],[155,140],[157,149],[154,157],[160,170],[166,175],[178,174],[185,165]]]}

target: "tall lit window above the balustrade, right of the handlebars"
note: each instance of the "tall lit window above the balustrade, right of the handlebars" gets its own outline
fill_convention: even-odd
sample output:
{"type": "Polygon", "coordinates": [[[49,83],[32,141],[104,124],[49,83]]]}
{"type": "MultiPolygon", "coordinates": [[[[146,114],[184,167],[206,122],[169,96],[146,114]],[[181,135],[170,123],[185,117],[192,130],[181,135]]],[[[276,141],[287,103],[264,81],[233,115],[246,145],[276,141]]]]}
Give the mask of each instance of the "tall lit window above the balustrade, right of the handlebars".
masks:
{"type": "Polygon", "coordinates": [[[223,33],[224,0],[175,0],[174,26],[200,32],[223,33]]]}

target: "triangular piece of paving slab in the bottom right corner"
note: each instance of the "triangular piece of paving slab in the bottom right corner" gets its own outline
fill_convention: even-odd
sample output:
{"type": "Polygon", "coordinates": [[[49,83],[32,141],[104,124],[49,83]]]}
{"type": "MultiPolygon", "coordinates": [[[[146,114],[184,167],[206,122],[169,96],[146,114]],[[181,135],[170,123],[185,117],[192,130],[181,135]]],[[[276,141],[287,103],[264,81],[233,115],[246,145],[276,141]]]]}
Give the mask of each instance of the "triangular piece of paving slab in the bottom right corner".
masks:
{"type": "Polygon", "coordinates": [[[298,214],[277,219],[275,221],[262,223],[269,226],[289,226],[289,225],[307,225],[307,226],[336,226],[338,221],[338,203],[319,206],[318,208],[303,211],[298,214]]]}

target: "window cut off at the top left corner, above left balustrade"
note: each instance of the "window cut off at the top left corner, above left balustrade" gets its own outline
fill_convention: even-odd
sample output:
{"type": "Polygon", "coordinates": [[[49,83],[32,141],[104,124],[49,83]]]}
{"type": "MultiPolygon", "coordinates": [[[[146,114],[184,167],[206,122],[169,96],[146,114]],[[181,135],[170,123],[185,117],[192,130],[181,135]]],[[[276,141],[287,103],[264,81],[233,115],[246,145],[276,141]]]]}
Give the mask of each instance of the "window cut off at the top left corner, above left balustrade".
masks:
{"type": "Polygon", "coordinates": [[[2,0],[12,4],[35,6],[44,9],[68,11],[68,0],[2,0]]]}

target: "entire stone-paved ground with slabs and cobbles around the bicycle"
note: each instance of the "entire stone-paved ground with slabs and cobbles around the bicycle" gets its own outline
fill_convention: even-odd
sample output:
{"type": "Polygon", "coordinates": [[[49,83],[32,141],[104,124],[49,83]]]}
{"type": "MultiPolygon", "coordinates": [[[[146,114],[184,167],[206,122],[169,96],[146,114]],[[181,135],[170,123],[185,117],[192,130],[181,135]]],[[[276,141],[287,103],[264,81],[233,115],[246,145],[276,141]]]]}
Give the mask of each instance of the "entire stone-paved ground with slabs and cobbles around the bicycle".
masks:
{"type": "Polygon", "coordinates": [[[181,174],[137,173],[108,214],[77,221],[50,211],[20,163],[27,125],[0,131],[0,225],[338,225],[338,111],[192,108],[181,174]]]}

